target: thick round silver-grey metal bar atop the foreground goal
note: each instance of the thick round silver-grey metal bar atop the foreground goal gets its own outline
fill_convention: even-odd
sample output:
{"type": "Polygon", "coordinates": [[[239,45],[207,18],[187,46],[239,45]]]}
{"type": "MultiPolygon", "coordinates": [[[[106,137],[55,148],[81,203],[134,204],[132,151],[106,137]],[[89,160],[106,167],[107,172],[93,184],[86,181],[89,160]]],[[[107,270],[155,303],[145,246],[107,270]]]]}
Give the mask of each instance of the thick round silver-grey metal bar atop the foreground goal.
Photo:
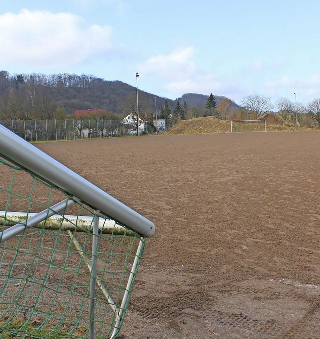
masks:
{"type": "Polygon", "coordinates": [[[120,224],[149,237],[154,224],[88,180],[0,125],[0,155],[74,195],[120,224]]]}

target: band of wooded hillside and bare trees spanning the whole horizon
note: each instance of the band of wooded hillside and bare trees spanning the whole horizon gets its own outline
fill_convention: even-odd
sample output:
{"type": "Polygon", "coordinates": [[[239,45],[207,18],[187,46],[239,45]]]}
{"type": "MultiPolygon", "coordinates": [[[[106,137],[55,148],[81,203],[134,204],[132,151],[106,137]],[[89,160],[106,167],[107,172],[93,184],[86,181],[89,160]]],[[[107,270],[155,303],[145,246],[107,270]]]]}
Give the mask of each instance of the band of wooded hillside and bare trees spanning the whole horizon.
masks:
{"type": "MultiPolygon", "coordinates": [[[[258,119],[277,109],[286,121],[301,125],[320,126],[320,98],[306,106],[287,98],[276,100],[275,106],[266,96],[249,95],[241,106],[228,98],[211,93],[206,103],[189,105],[186,101],[170,100],[139,90],[139,118],[149,121],[165,119],[171,127],[180,120],[202,116],[219,119],[258,119]],[[159,109],[155,112],[154,101],[159,109]]],[[[122,119],[137,116],[136,88],[120,81],[106,81],[93,75],[76,74],[14,74],[0,71],[0,120],[74,118],[75,110],[106,109],[99,119],[122,119]]],[[[93,118],[93,117],[87,117],[93,118]]]]}

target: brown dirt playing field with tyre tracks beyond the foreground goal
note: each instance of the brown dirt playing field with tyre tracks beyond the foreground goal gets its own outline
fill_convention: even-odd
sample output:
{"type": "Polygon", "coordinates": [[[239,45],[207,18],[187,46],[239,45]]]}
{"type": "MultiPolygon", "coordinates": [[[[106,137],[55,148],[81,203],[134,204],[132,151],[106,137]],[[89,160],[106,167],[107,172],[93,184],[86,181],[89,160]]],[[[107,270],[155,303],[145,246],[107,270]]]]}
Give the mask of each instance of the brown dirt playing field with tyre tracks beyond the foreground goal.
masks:
{"type": "Polygon", "coordinates": [[[36,145],[151,219],[120,338],[320,337],[320,133],[36,145]]]}

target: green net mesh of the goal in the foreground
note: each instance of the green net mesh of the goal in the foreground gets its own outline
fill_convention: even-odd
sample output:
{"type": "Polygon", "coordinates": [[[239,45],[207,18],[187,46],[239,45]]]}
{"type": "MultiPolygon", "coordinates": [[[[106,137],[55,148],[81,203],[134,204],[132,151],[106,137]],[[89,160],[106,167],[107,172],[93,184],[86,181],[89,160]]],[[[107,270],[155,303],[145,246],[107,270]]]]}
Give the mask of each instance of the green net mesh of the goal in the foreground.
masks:
{"type": "MultiPolygon", "coordinates": [[[[2,157],[0,171],[0,231],[16,224],[9,211],[24,212],[19,216],[24,220],[64,199],[74,199],[2,157]]],[[[83,338],[89,336],[93,320],[95,337],[115,337],[145,240],[80,201],[56,214],[59,218],[55,215],[54,221],[46,218],[34,227],[26,221],[22,233],[0,243],[0,337],[83,338]],[[94,216],[99,217],[99,232],[93,255],[97,272],[92,318],[94,216]],[[63,227],[66,222],[69,226],[63,227]]]]}

